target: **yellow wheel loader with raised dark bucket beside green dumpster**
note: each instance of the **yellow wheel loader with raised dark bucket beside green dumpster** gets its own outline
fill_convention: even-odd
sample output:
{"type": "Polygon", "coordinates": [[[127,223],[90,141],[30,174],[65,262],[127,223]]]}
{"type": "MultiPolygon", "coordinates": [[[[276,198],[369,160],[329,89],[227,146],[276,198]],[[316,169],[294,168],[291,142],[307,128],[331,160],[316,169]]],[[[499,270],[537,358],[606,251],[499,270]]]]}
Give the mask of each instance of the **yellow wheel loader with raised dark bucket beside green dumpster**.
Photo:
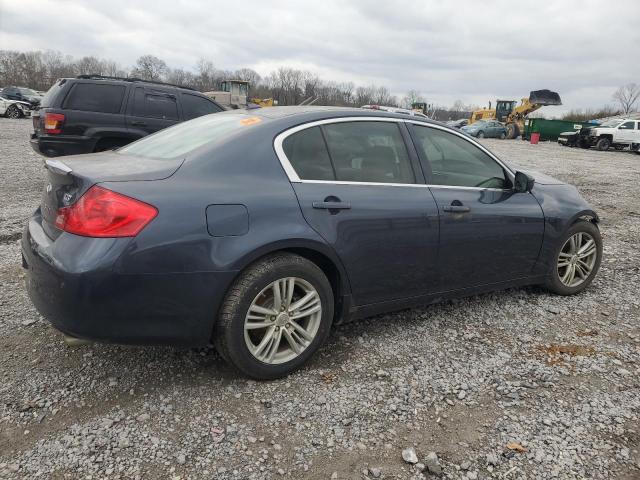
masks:
{"type": "Polygon", "coordinates": [[[516,138],[524,131],[524,118],[547,105],[562,105],[560,95],[551,90],[534,90],[529,98],[520,100],[496,100],[496,108],[482,108],[471,113],[469,125],[478,120],[498,120],[507,127],[507,138],[516,138]]]}

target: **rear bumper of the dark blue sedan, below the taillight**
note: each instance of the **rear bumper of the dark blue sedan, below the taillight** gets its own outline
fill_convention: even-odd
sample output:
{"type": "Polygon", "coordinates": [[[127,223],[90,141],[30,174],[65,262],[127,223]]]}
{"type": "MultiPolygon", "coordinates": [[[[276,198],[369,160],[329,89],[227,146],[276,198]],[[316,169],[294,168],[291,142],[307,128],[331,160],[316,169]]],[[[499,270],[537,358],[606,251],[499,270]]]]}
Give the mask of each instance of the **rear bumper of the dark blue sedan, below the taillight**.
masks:
{"type": "Polygon", "coordinates": [[[119,273],[130,241],[63,233],[54,242],[36,212],[22,236],[31,301],[55,328],[78,338],[209,344],[219,305],[236,273],[119,273]]]}

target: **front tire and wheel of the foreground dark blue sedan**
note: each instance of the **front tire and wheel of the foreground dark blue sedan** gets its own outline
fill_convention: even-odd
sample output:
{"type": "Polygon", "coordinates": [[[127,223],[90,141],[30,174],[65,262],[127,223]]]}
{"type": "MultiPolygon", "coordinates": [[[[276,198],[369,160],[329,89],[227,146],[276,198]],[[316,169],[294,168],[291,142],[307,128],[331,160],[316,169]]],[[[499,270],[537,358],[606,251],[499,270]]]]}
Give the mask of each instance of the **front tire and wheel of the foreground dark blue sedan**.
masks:
{"type": "MultiPolygon", "coordinates": [[[[551,267],[549,279],[545,283],[545,287],[551,292],[558,295],[575,295],[576,293],[580,293],[585,290],[595,278],[596,274],[598,273],[598,269],[600,268],[601,261],[602,236],[600,235],[600,230],[598,229],[597,225],[592,222],[579,221],[573,224],[560,239],[559,246],[554,253],[553,266],[551,267]],[[564,276],[567,271],[566,269],[570,267],[561,267],[561,265],[563,263],[571,263],[570,260],[567,260],[567,255],[571,255],[571,253],[567,253],[571,249],[570,239],[579,234],[581,234],[583,241],[585,241],[585,243],[581,245],[580,248],[586,246],[586,242],[589,239],[592,239],[593,244],[595,245],[595,249],[593,258],[589,257],[588,259],[588,265],[590,267],[589,273],[584,277],[581,277],[581,281],[579,283],[572,285],[570,284],[570,282],[566,281],[568,280],[568,278],[564,276]]],[[[582,269],[583,267],[580,268],[582,269]]],[[[576,269],[576,267],[574,267],[574,269],[576,269]]]]}

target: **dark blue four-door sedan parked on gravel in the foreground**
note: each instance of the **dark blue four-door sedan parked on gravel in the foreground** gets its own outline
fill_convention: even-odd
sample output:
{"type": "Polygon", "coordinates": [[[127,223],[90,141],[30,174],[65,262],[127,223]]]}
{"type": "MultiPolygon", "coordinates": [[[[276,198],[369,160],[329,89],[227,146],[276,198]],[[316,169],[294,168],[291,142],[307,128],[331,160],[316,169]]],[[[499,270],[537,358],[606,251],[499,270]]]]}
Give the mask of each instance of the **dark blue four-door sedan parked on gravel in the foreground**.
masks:
{"type": "Polygon", "coordinates": [[[22,253],[56,328],[213,343],[259,379],[300,367],[334,322],[521,285],[575,294],[602,255],[574,187],[388,112],[235,110],[46,167],[22,253]]]}

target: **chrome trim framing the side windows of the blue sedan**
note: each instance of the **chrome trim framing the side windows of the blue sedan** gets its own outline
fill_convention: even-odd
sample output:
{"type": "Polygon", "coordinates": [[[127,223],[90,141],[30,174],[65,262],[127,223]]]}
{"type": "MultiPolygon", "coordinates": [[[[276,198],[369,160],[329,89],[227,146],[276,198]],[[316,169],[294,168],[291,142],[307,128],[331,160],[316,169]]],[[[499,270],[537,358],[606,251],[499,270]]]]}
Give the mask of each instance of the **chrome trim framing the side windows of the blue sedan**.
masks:
{"type": "Polygon", "coordinates": [[[316,120],[315,122],[303,123],[301,125],[297,125],[295,127],[291,127],[284,132],[276,135],[276,138],[273,140],[273,148],[276,152],[276,156],[280,161],[280,165],[282,165],[283,170],[289,177],[289,181],[291,183],[319,183],[326,185],[364,185],[364,186],[381,186],[381,187],[427,187],[427,188],[448,188],[448,189],[461,189],[461,190],[491,190],[491,191],[510,191],[510,189],[503,188],[485,188],[485,187],[462,187],[457,185],[437,185],[437,184],[427,184],[427,183],[386,183],[386,182],[353,182],[353,181],[344,181],[344,180],[303,180],[296,173],[293,165],[289,162],[287,155],[284,153],[284,148],[282,144],[284,140],[293,135],[294,133],[300,132],[301,130],[306,130],[307,128],[313,128],[320,125],[327,125],[332,123],[346,123],[346,122],[390,122],[390,123],[412,123],[415,125],[436,128],[438,130],[443,130],[448,133],[452,133],[454,135],[459,136],[463,140],[471,143],[472,145],[480,148],[485,154],[487,154],[490,158],[492,158],[495,162],[498,163],[502,168],[504,168],[507,172],[507,176],[513,182],[513,171],[506,166],[504,163],[500,161],[494,154],[492,154],[489,150],[487,150],[484,146],[482,146],[479,142],[475,141],[475,139],[468,137],[467,135],[456,132],[453,129],[450,129],[445,126],[436,125],[432,123],[421,122],[415,119],[404,119],[404,118],[391,118],[391,117],[338,117],[338,118],[325,118],[324,120],[316,120]]]}

